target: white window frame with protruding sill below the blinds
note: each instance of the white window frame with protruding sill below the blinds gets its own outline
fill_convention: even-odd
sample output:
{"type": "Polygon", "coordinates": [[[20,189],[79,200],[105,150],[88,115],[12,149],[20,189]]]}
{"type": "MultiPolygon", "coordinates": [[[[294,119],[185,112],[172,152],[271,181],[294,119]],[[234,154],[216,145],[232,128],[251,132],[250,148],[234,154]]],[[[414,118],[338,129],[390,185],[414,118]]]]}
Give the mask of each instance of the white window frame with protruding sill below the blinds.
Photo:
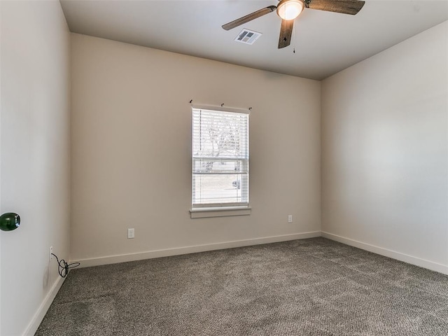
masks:
{"type": "MultiPolygon", "coordinates": [[[[204,218],[204,217],[221,217],[221,216],[241,216],[241,215],[250,215],[251,214],[251,207],[249,205],[249,116],[250,111],[246,109],[235,109],[235,108],[228,108],[223,106],[203,106],[203,105],[192,105],[191,106],[191,208],[190,208],[190,216],[191,218],[204,218]],[[224,112],[224,113],[242,113],[247,114],[247,149],[246,149],[246,159],[245,165],[247,166],[247,202],[233,202],[233,203],[218,203],[218,204],[211,204],[211,203],[202,203],[202,204],[194,204],[194,198],[193,198],[193,188],[195,183],[195,172],[193,171],[193,167],[195,167],[195,160],[199,158],[195,158],[194,156],[194,113],[195,110],[207,110],[207,111],[216,111],[216,112],[224,112]]],[[[217,157],[216,159],[219,160],[217,157]]],[[[237,161],[241,160],[241,158],[225,158],[224,160],[230,160],[230,161],[237,161]]],[[[214,175],[214,174],[211,174],[214,175]]]]}

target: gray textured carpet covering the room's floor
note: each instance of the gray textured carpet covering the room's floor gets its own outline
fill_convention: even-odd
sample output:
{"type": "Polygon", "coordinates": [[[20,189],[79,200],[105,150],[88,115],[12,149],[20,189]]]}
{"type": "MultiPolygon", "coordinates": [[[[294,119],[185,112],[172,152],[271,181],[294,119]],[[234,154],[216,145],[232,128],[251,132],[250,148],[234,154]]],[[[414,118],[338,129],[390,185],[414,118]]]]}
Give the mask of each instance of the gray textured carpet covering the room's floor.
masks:
{"type": "Polygon", "coordinates": [[[448,335],[448,276],[324,238],[73,269],[37,336],[448,335]]]}

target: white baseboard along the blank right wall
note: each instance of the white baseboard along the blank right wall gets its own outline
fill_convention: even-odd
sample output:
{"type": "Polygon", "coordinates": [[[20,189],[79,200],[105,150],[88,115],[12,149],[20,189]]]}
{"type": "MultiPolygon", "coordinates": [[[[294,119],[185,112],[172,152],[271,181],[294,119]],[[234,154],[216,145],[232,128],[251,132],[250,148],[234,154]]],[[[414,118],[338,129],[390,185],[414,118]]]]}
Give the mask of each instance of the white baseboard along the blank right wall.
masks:
{"type": "Polygon", "coordinates": [[[349,239],[349,238],[346,238],[346,237],[333,235],[332,233],[329,233],[329,232],[323,232],[322,231],[321,234],[322,234],[322,237],[325,237],[325,238],[328,238],[328,239],[331,239],[331,240],[335,240],[335,241],[339,241],[339,243],[342,243],[342,244],[346,244],[346,245],[354,246],[354,247],[357,247],[357,248],[361,248],[361,249],[363,249],[365,251],[370,251],[370,252],[373,252],[373,253],[377,253],[379,255],[384,255],[384,256],[389,257],[389,258],[393,258],[393,259],[396,259],[396,260],[404,261],[404,262],[407,262],[407,263],[412,264],[412,265],[416,265],[416,266],[419,266],[419,267],[427,268],[427,269],[430,269],[431,271],[435,271],[435,272],[439,272],[439,273],[443,273],[443,274],[447,274],[448,275],[448,266],[447,265],[442,265],[442,264],[439,264],[437,262],[432,262],[432,261],[429,261],[429,260],[417,258],[417,257],[414,257],[412,255],[407,255],[405,253],[392,251],[392,250],[389,250],[387,248],[382,248],[382,247],[379,247],[379,246],[366,244],[366,243],[363,243],[361,241],[349,239]]]}

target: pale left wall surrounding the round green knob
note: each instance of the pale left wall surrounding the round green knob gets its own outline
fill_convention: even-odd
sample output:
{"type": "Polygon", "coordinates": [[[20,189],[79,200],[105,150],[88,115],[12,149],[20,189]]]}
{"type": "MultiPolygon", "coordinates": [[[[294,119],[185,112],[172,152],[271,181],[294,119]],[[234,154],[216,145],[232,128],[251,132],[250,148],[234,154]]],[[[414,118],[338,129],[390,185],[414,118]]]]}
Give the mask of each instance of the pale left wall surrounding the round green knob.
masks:
{"type": "Polygon", "coordinates": [[[59,1],[1,2],[1,327],[33,335],[69,258],[70,34],[59,1]],[[50,268],[49,268],[50,266],[50,268]]]}

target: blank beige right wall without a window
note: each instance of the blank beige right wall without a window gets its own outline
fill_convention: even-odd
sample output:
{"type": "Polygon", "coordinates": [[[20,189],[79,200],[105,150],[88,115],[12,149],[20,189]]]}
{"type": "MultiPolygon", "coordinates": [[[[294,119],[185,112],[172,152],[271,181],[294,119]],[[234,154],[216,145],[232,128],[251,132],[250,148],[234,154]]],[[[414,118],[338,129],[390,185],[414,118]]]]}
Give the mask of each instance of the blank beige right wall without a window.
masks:
{"type": "Polygon", "coordinates": [[[322,83],[322,231],[440,272],[448,272],[447,41],[444,22],[322,83]]]}

